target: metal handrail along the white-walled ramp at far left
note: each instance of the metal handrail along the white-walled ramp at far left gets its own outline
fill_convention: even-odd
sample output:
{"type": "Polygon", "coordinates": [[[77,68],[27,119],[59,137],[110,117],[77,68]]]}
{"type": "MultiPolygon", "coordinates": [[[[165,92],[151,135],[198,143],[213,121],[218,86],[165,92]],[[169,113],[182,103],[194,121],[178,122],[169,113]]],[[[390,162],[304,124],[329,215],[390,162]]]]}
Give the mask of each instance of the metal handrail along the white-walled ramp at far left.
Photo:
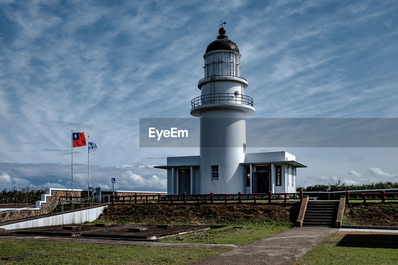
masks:
{"type": "MultiPolygon", "coordinates": [[[[58,202],[54,202],[54,203],[43,203],[43,204],[41,204],[38,207],[35,205],[35,206],[16,208],[16,209],[13,209],[13,210],[8,210],[8,211],[0,211],[0,224],[3,222],[2,221],[2,215],[10,213],[10,212],[14,213],[14,218],[12,220],[14,222],[16,220],[15,219],[15,212],[18,212],[18,211],[27,211],[26,218],[28,218],[29,217],[29,210],[39,210],[40,211],[39,212],[39,216],[41,216],[41,208],[44,208],[44,207],[51,207],[51,214],[53,214],[53,209],[55,207],[59,206],[59,205],[61,205],[61,207],[62,207],[62,212],[64,212],[64,207],[63,207],[64,204],[72,204],[72,210],[74,210],[74,203],[79,203],[79,202],[83,203],[84,201],[91,201],[91,206],[93,207],[94,204],[92,202],[95,199],[98,199],[98,201],[99,201],[98,204],[101,205],[102,204],[102,199],[105,198],[105,197],[108,197],[108,203],[111,203],[111,201],[110,201],[111,195],[97,195],[97,196],[82,197],[82,198],[75,199],[75,200],[70,200],[70,201],[58,201],[58,202]]],[[[37,216],[37,215],[34,215],[34,216],[37,216]]],[[[22,219],[22,218],[20,218],[20,219],[22,219]]],[[[4,221],[4,222],[7,222],[7,221],[4,221]]]]}

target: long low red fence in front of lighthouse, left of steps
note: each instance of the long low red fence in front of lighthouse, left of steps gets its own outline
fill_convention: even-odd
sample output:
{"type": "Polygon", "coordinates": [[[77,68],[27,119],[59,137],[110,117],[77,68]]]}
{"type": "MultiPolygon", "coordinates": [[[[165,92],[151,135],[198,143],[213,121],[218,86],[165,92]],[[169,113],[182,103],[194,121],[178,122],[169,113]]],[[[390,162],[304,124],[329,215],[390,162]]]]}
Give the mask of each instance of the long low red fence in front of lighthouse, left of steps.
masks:
{"type": "Polygon", "coordinates": [[[242,203],[242,201],[253,201],[256,203],[258,200],[267,200],[268,203],[271,203],[271,200],[282,200],[286,203],[287,199],[293,197],[295,199],[302,200],[302,192],[300,193],[209,193],[209,194],[171,194],[171,195],[161,195],[158,193],[157,195],[112,195],[112,204],[115,203],[148,203],[157,202],[157,203],[174,203],[174,202],[183,202],[187,201],[195,201],[197,203],[210,201],[210,203],[214,203],[215,201],[224,201],[227,203],[228,201],[238,201],[242,203]]]}

